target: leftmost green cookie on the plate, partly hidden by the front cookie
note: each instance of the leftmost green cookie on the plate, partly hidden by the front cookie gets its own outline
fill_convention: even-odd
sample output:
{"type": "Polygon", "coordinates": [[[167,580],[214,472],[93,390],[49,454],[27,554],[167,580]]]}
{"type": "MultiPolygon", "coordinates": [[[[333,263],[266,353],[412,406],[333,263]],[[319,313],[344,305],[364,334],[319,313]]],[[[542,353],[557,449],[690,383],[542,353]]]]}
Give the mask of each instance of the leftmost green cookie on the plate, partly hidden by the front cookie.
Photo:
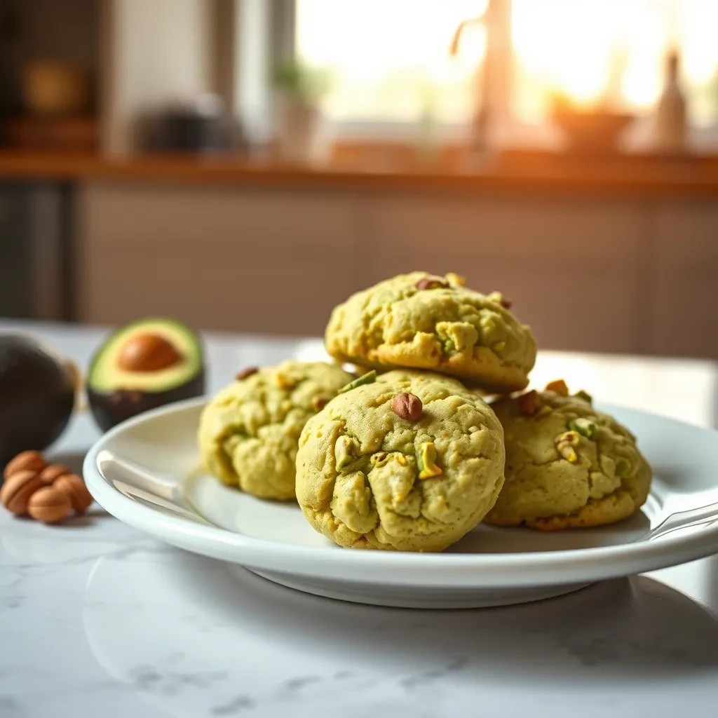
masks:
{"type": "Polygon", "coordinates": [[[260,498],[294,498],[299,434],[354,376],[322,362],[246,369],[205,406],[199,443],[207,470],[260,498]]]}

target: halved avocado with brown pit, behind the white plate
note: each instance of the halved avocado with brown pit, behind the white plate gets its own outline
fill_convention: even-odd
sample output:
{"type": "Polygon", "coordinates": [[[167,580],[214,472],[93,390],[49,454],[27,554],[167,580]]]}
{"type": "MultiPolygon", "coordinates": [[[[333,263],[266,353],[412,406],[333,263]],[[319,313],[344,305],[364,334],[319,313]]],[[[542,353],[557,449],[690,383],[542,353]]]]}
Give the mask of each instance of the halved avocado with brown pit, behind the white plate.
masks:
{"type": "Polygon", "coordinates": [[[177,320],[149,317],[120,327],[95,352],[88,401],[106,432],[131,416],[205,393],[202,340],[177,320]]]}

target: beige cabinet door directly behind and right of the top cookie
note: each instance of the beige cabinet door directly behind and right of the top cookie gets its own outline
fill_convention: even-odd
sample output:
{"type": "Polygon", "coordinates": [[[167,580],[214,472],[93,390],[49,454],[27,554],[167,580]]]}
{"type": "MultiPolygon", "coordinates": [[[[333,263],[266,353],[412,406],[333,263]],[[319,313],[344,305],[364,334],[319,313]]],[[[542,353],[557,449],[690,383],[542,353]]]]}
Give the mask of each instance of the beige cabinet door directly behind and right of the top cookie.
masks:
{"type": "Polygon", "coordinates": [[[646,210],[571,197],[376,197],[365,233],[371,279],[408,269],[498,289],[543,348],[646,350],[646,210]]]}

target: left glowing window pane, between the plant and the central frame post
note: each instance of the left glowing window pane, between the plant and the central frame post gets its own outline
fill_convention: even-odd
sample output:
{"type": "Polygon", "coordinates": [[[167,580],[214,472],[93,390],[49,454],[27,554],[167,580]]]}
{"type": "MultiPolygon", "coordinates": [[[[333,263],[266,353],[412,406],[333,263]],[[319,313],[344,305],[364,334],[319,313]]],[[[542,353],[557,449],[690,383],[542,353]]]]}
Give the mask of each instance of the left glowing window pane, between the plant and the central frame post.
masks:
{"type": "Polygon", "coordinates": [[[457,25],[481,0],[297,0],[297,53],[330,67],[327,113],[339,121],[464,122],[475,106],[484,37],[467,30],[449,57],[457,25]]]}

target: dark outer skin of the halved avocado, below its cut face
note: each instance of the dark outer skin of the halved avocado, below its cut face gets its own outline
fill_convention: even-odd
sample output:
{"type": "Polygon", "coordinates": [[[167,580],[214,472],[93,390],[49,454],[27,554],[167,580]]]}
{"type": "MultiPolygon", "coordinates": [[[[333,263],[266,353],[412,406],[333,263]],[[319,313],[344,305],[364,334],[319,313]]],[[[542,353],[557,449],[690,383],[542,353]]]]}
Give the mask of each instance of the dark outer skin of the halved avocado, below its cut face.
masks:
{"type": "Polygon", "coordinates": [[[95,423],[103,432],[109,431],[125,419],[141,414],[143,411],[157,409],[158,406],[172,404],[205,393],[205,370],[195,374],[190,381],[168,391],[133,391],[118,389],[108,393],[94,391],[88,386],[88,402],[95,423]]]}

